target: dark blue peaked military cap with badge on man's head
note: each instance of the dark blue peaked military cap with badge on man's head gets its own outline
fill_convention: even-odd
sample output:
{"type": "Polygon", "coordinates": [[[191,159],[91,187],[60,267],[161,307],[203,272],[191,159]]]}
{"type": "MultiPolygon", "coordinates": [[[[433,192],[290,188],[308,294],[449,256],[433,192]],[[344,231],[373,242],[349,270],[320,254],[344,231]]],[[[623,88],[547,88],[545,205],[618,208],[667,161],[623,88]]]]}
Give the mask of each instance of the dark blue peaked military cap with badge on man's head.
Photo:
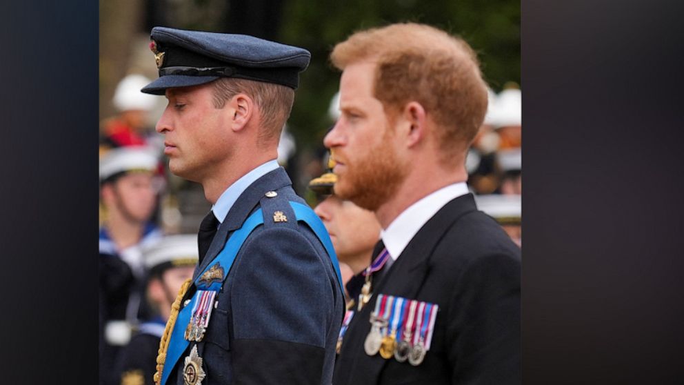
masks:
{"type": "Polygon", "coordinates": [[[141,91],[164,95],[166,88],[197,86],[220,77],[299,85],[299,72],[311,54],[303,48],[245,34],[224,34],[154,27],[150,49],[159,78],[141,91]]]}

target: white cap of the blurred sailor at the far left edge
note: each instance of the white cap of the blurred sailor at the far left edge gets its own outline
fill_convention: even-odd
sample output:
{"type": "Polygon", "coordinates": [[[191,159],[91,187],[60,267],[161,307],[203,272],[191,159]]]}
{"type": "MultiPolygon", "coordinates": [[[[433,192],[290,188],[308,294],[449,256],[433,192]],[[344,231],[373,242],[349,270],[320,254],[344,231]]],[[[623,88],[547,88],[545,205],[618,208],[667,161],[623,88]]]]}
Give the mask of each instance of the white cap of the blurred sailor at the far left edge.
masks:
{"type": "Polygon", "coordinates": [[[100,181],[105,181],[121,172],[157,170],[158,160],[154,149],[148,146],[114,148],[100,159],[100,181]]]}

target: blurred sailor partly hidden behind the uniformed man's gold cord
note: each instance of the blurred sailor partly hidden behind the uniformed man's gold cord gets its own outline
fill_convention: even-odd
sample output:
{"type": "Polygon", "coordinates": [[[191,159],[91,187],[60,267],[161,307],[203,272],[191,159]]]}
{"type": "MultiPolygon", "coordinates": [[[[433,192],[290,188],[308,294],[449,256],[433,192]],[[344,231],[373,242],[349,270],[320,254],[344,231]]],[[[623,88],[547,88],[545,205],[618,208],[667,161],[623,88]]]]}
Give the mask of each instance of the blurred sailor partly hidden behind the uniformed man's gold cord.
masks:
{"type": "Polygon", "coordinates": [[[147,270],[145,299],[154,315],[137,327],[119,353],[120,385],[152,385],[157,353],[171,304],[197,265],[197,235],[170,235],[143,249],[147,270]]]}

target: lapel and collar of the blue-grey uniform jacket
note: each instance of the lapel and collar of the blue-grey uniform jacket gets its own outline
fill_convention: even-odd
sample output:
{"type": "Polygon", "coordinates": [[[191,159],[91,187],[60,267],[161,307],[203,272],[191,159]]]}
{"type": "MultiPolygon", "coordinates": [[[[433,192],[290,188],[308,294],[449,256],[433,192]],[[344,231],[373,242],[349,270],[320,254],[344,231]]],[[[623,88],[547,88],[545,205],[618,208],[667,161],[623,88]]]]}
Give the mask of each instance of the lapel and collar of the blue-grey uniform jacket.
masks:
{"type": "Polygon", "coordinates": [[[279,188],[290,185],[292,185],[292,181],[290,181],[290,177],[288,177],[287,172],[285,172],[285,169],[282,167],[268,172],[266,175],[250,184],[230,208],[228,215],[223,219],[223,223],[219,225],[219,230],[217,230],[216,235],[214,235],[214,239],[207,250],[207,255],[202,260],[202,263],[195,268],[193,278],[197,277],[197,275],[207,268],[214,258],[219,255],[221,250],[223,250],[223,246],[225,246],[228,234],[242,226],[245,219],[247,219],[250,213],[257,208],[259,199],[261,199],[266,192],[278,190],[279,188]]]}

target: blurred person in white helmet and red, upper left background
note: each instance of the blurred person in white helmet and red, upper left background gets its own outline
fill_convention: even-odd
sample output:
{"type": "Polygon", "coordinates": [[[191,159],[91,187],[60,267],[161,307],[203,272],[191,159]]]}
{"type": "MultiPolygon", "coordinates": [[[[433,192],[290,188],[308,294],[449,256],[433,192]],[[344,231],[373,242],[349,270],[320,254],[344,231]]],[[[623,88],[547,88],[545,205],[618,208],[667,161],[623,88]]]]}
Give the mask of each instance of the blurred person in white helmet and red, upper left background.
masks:
{"type": "Polygon", "coordinates": [[[148,114],[157,102],[156,97],[140,92],[148,83],[150,79],[137,74],[128,75],[119,81],[112,99],[119,114],[105,119],[101,124],[101,152],[148,144],[148,114]]]}

